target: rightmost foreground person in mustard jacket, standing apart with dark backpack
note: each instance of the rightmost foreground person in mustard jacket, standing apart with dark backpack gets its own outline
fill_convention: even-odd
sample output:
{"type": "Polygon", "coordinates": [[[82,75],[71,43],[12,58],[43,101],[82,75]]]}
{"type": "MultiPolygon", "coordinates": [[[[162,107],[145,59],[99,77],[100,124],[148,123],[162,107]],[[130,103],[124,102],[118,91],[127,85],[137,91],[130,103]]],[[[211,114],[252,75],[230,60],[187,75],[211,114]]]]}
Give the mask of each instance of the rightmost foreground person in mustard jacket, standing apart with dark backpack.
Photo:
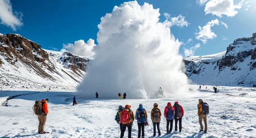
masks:
{"type": "Polygon", "coordinates": [[[207,115],[203,114],[203,108],[202,108],[203,100],[199,99],[198,102],[199,102],[199,104],[197,104],[197,115],[198,115],[199,124],[200,124],[200,131],[203,131],[203,124],[202,124],[202,120],[203,120],[203,122],[204,122],[204,131],[203,132],[207,133],[207,115]]]}

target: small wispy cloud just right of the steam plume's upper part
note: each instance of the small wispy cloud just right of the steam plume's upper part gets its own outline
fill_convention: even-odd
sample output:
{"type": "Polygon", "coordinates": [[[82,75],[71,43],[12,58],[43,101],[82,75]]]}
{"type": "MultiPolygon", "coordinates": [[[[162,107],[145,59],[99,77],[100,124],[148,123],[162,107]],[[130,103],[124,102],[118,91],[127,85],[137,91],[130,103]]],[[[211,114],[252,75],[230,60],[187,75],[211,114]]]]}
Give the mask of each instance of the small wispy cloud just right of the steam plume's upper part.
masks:
{"type": "Polygon", "coordinates": [[[167,24],[169,27],[177,25],[178,27],[183,27],[189,25],[189,23],[185,20],[185,16],[179,15],[177,17],[171,18],[170,14],[164,13],[164,16],[166,18],[165,24],[167,24]]]}

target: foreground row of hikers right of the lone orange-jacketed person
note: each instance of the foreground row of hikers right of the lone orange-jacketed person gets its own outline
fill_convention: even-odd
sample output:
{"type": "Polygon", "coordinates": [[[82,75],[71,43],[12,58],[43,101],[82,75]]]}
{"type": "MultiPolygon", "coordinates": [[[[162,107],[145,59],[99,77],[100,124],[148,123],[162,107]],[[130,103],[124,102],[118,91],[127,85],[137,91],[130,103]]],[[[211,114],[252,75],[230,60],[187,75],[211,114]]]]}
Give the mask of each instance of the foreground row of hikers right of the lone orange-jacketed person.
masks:
{"type": "MultiPolygon", "coordinates": [[[[203,100],[199,99],[199,104],[197,104],[197,115],[199,117],[200,131],[207,133],[207,115],[203,113],[203,100]],[[204,129],[202,120],[204,121],[204,129]]],[[[208,105],[208,104],[207,104],[208,105]]],[[[120,125],[121,135],[120,138],[123,138],[124,132],[126,131],[126,127],[128,128],[128,138],[131,138],[132,126],[134,120],[137,120],[138,125],[138,138],[144,138],[144,128],[148,125],[147,122],[147,111],[144,109],[143,104],[139,104],[135,112],[135,116],[133,111],[130,109],[130,105],[126,105],[125,107],[119,106],[117,109],[117,115],[115,120],[120,125]]],[[[153,104],[153,109],[151,109],[151,120],[153,123],[153,136],[156,136],[156,128],[158,130],[158,136],[161,136],[160,132],[160,121],[161,121],[162,113],[158,108],[158,103],[153,104]]],[[[175,121],[175,131],[181,132],[182,130],[182,118],[184,116],[183,107],[179,104],[178,101],[174,102],[174,105],[171,105],[171,102],[167,103],[164,110],[164,117],[166,118],[166,134],[170,134],[173,129],[173,122],[175,121]],[[179,127],[178,127],[179,124],[179,127]]]]}

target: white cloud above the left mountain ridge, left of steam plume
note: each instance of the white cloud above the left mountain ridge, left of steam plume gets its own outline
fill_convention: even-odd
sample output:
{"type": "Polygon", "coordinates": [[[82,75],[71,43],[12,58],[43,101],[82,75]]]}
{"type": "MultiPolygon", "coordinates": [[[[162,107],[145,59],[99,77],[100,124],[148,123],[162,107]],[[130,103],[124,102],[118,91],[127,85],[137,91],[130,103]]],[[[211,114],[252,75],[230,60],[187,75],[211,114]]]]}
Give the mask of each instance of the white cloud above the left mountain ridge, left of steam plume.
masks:
{"type": "Polygon", "coordinates": [[[62,52],[71,52],[73,54],[77,54],[83,57],[89,57],[94,58],[95,52],[94,47],[96,44],[94,44],[93,39],[89,39],[87,43],[85,43],[84,40],[78,40],[75,41],[74,44],[68,43],[67,45],[63,44],[62,52]]]}

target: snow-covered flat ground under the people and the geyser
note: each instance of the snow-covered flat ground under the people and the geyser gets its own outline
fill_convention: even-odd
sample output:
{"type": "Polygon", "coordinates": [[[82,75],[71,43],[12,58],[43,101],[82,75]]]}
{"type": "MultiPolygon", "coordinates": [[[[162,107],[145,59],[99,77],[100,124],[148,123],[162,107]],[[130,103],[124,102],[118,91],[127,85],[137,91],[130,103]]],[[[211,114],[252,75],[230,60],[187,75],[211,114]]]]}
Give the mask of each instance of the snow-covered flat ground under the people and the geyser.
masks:
{"type": "MultiPolygon", "coordinates": [[[[197,89],[197,85],[190,88],[197,89]]],[[[162,115],[160,138],[253,138],[256,137],[256,89],[244,87],[218,87],[215,94],[213,86],[202,86],[199,92],[191,92],[193,96],[184,98],[161,99],[79,99],[78,105],[72,106],[72,91],[37,92],[37,91],[0,91],[0,102],[14,95],[25,94],[8,100],[8,106],[0,106],[1,138],[119,138],[119,125],[114,120],[119,105],[131,105],[135,112],[140,103],[144,105],[148,115],[153,104],[158,102],[161,111],[167,102],[178,101],[184,109],[183,128],[181,133],[174,130],[166,133],[166,121],[162,115]],[[209,89],[210,88],[210,89],[209,89]],[[247,93],[245,95],[240,95],[247,93]],[[38,120],[33,116],[32,106],[35,100],[49,99],[49,113],[45,130],[49,134],[37,134],[38,120]],[[198,99],[210,105],[208,115],[208,133],[199,132],[197,116],[198,99]],[[225,118],[220,118],[226,115],[225,118]]],[[[63,89],[60,91],[63,91],[63,89]]],[[[99,93],[101,97],[101,93],[99,93]]],[[[175,97],[175,96],[174,96],[175,97]]],[[[127,96],[129,98],[129,95],[127,96]]],[[[153,126],[149,119],[145,127],[145,137],[153,138],[153,126]]],[[[173,128],[174,129],[174,128],[173,128]]],[[[132,137],[137,138],[137,121],[133,125],[132,137]]],[[[125,138],[128,132],[125,132],[125,138]]]]}

